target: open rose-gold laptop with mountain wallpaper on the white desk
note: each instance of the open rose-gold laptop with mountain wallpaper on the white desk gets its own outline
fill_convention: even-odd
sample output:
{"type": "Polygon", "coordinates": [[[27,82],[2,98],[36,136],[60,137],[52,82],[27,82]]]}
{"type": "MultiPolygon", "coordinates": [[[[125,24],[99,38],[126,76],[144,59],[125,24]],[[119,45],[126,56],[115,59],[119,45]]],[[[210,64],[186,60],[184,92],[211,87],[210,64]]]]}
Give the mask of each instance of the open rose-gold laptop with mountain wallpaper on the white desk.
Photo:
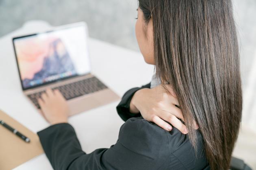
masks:
{"type": "Polygon", "coordinates": [[[63,94],[71,110],[69,116],[120,99],[91,74],[84,22],[15,37],[13,47],[22,90],[39,111],[37,99],[47,88],[63,94]]]}

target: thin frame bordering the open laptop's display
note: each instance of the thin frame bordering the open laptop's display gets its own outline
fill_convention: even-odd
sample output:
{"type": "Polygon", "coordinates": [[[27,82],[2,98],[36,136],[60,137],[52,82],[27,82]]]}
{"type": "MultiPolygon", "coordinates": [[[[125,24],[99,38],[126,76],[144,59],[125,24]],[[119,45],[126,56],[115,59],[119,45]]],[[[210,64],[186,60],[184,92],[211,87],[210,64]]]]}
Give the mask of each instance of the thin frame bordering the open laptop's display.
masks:
{"type": "MultiPolygon", "coordinates": [[[[80,27],[80,26],[84,26],[85,27],[85,36],[86,36],[85,37],[85,41],[87,42],[87,53],[88,53],[88,57],[89,57],[89,48],[88,48],[88,38],[89,38],[89,36],[88,36],[87,25],[84,22],[74,23],[74,24],[70,24],[70,25],[66,25],[66,26],[59,26],[59,27],[53,28],[53,29],[51,29],[49,31],[39,32],[39,33],[35,33],[35,34],[28,34],[28,35],[24,35],[24,36],[17,36],[17,37],[13,37],[12,38],[13,49],[14,49],[14,54],[15,54],[15,59],[16,59],[16,64],[17,64],[17,68],[18,68],[18,72],[19,72],[19,78],[20,78],[20,83],[21,83],[23,91],[28,90],[28,89],[35,89],[37,87],[41,87],[41,86],[45,86],[45,85],[50,85],[52,83],[56,83],[56,82],[67,80],[67,79],[72,79],[72,78],[75,78],[75,77],[82,77],[82,76],[85,76],[87,74],[90,74],[91,69],[90,69],[89,72],[85,72],[84,74],[77,74],[77,75],[73,75],[73,76],[69,76],[69,77],[64,77],[64,78],[57,79],[57,80],[54,80],[54,81],[50,81],[50,82],[42,83],[42,84],[39,84],[39,85],[34,85],[32,87],[24,88],[23,83],[22,83],[22,78],[21,78],[21,73],[20,73],[20,66],[19,66],[19,62],[18,62],[18,58],[17,58],[17,53],[16,53],[14,41],[16,39],[20,39],[20,38],[26,38],[26,37],[30,37],[30,36],[37,36],[37,35],[40,35],[40,34],[47,34],[47,33],[50,33],[50,32],[56,32],[56,31],[59,31],[59,30],[66,30],[66,29],[70,29],[70,28],[74,28],[74,27],[80,27]]],[[[89,60],[89,64],[91,65],[90,57],[88,58],[88,60],[89,60]]]]}

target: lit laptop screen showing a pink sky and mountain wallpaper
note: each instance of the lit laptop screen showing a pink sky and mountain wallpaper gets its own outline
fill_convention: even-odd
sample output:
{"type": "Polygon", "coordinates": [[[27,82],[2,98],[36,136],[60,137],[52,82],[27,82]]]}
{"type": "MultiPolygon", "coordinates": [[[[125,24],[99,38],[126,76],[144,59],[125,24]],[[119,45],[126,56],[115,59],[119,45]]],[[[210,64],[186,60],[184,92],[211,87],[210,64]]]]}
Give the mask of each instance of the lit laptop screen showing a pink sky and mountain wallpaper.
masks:
{"type": "Polygon", "coordinates": [[[85,24],[13,38],[22,89],[90,72],[85,24]]]}

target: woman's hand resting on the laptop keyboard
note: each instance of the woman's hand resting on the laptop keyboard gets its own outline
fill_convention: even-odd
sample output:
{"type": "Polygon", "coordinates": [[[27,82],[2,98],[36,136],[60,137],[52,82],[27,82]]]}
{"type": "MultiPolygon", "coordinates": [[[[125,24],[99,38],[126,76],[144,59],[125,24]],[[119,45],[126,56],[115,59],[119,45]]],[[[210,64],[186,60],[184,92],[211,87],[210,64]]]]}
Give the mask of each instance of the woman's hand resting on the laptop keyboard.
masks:
{"type": "Polygon", "coordinates": [[[69,107],[59,90],[47,89],[38,99],[43,117],[52,125],[67,123],[69,107]]]}

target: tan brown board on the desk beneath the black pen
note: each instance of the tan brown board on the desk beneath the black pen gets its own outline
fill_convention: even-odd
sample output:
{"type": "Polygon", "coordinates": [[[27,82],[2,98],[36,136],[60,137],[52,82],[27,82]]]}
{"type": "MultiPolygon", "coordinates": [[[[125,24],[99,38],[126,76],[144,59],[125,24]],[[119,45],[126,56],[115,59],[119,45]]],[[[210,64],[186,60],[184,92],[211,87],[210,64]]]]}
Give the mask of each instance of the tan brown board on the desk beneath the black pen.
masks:
{"type": "Polygon", "coordinates": [[[3,120],[8,125],[30,138],[30,143],[26,143],[0,125],[0,170],[11,170],[43,153],[37,134],[31,132],[1,110],[0,120],[3,120]]]}

